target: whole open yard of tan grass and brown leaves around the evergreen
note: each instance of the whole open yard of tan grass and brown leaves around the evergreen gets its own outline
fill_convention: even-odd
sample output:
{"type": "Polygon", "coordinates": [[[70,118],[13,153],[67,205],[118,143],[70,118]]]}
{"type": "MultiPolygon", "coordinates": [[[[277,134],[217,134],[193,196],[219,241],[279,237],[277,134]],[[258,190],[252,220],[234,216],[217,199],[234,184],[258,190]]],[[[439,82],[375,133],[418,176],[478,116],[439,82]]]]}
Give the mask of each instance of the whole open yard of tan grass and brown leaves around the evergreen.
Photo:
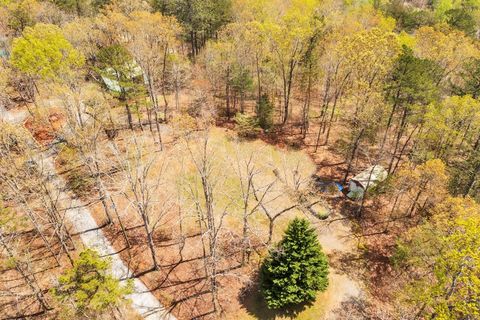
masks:
{"type": "MultiPolygon", "coordinates": [[[[233,132],[216,128],[163,126],[162,136],[163,151],[149,132],[120,132],[113,142],[103,139],[99,162],[103,172],[112,174],[104,175],[102,183],[112,200],[107,210],[116,223],[106,224],[101,201],[90,208],[125,263],[178,318],[213,317],[205,232],[208,210],[213,212],[217,232],[218,300],[227,319],[292,316],[268,311],[256,277],[267,246],[281,238],[294,217],[313,223],[332,260],[355,250],[348,225],[342,220],[329,222],[337,217],[335,212],[321,219],[328,204],[313,187],[316,166],[304,151],[242,141],[233,132]],[[213,195],[209,204],[205,180],[213,195]]],[[[59,149],[58,171],[69,179],[78,167],[62,161],[65,152],[68,146],[59,149]]],[[[82,197],[88,202],[88,195],[82,197]]],[[[315,304],[296,311],[299,319],[324,317],[362,291],[335,264],[330,282],[315,304]]]]}

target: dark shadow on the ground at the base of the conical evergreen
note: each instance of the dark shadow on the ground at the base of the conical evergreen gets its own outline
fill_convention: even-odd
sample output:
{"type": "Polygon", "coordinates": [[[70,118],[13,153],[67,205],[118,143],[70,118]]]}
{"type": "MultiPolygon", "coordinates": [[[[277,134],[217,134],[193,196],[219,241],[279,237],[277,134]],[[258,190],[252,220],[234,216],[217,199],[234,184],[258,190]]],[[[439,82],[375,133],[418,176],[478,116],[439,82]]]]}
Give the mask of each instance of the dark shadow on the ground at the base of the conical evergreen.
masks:
{"type": "Polygon", "coordinates": [[[308,302],[278,310],[268,309],[267,303],[260,292],[258,275],[255,275],[250,284],[240,291],[238,299],[249,315],[261,320],[274,320],[279,317],[295,319],[300,312],[313,304],[308,302]]]}

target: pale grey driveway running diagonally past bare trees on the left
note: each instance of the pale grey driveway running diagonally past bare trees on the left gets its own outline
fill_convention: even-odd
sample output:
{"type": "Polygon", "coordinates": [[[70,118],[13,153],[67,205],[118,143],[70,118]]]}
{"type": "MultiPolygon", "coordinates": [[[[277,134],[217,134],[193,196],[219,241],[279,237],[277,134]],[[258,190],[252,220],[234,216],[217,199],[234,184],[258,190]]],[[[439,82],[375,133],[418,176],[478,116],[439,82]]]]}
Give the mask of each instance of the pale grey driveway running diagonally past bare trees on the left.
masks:
{"type": "MultiPolygon", "coordinates": [[[[0,110],[0,121],[12,124],[22,123],[26,116],[27,113],[24,112],[0,110]]],[[[79,200],[73,199],[68,193],[63,191],[66,190],[65,182],[55,171],[53,156],[45,152],[41,153],[37,158],[37,162],[49,176],[50,181],[56,186],[59,192],[59,199],[68,204],[65,217],[72,225],[73,231],[80,234],[80,238],[85,246],[97,250],[102,256],[111,258],[112,274],[114,276],[122,280],[128,279],[132,272],[123,263],[120,255],[105,237],[92,217],[90,210],[79,200]]],[[[140,279],[134,279],[134,293],[129,295],[128,298],[132,301],[132,307],[147,320],[176,320],[140,279]]]]}

